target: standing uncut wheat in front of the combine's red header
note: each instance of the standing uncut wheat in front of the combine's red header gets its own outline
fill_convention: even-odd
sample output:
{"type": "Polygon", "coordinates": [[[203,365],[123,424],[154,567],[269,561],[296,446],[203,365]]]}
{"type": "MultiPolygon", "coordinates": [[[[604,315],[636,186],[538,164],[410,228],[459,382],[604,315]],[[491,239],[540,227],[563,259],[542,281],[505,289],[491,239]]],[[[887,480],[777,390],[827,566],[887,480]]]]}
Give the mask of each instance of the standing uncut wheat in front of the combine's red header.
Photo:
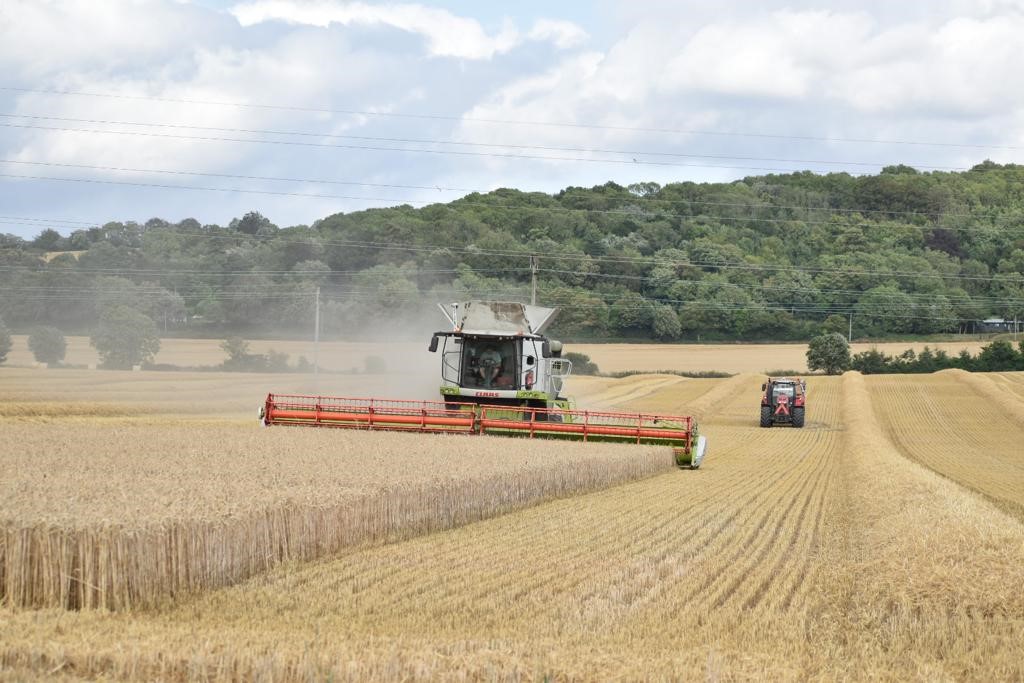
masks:
{"type": "Polygon", "coordinates": [[[152,605],[673,466],[667,447],[254,423],[12,421],[4,437],[0,598],[37,607],[152,605]]]}

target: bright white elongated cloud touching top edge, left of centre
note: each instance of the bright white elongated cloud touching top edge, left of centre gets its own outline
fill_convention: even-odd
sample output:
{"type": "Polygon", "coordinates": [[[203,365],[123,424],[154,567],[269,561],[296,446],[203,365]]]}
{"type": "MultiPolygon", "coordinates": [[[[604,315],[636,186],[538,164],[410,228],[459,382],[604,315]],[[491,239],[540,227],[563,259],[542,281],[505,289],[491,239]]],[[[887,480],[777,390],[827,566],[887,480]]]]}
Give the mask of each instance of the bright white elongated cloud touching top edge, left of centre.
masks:
{"type": "MultiPolygon", "coordinates": [[[[256,0],[233,6],[230,12],[244,27],[265,22],[327,28],[383,25],[423,36],[431,55],[465,59],[489,59],[521,42],[516,29],[506,22],[502,30],[488,35],[478,22],[457,16],[444,9],[417,4],[372,5],[337,0],[256,0]]],[[[564,31],[564,30],[563,30],[564,31]]]]}

